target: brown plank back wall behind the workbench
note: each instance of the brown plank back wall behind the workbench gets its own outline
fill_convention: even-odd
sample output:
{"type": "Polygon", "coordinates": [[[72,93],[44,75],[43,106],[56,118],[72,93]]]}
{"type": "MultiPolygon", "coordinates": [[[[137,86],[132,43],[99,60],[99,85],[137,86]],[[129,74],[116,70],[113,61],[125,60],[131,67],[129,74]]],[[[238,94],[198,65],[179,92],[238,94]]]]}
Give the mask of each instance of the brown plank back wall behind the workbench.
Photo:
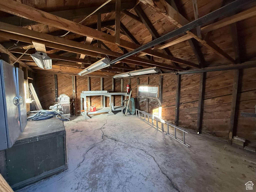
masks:
{"type": "MultiPolygon", "coordinates": [[[[54,105],[55,102],[55,83],[53,74],[37,73],[35,79],[36,91],[39,97],[39,101],[43,109],[49,109],[49,106],[54,105]]],[[[70,99],[72,96],[72,76],[57,75],[58,81],[58,94],[67,94],[70,99]]],[[[91,91],[100,90],[100,78],[90,77],[91,91]]],[[[103,89],[107,91],[112,90],[112,78],[103,78],[103,89]]],[[[87,77],[76,76],[76,111],[80,111],[80,93],[82,91],[88,91],[87,77]]],[[[121,79],[115,79],[115,90],[121,91],[121,79]]],[[[114,97],[115,106],[121,105],[121,96],[114,97]]],[[[101,107],[101,97],[91,97],[91,105],[96,104],[96,109],[101,107]]],[[[106,97],[106,106],[109,106],[109,98],[106,97]]],[[[79,114],[80,112],[77,112],[79,114]]]]}

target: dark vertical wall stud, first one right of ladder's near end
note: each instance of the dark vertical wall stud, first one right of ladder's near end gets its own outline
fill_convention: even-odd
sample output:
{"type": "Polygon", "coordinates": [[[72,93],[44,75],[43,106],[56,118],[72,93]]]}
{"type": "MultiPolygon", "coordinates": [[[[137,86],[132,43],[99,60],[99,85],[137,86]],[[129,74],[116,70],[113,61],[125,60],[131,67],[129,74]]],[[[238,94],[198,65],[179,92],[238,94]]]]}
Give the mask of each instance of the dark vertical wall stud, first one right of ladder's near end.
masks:
{"type": "Polygon", "coordinates": [[[198,108],[197,108],[197,134],[201,133],[202,130],[202,107],[204,106],[204,87],[205,87],[205,73],[200,74],[200,85],[198,95],[198,108]]]}

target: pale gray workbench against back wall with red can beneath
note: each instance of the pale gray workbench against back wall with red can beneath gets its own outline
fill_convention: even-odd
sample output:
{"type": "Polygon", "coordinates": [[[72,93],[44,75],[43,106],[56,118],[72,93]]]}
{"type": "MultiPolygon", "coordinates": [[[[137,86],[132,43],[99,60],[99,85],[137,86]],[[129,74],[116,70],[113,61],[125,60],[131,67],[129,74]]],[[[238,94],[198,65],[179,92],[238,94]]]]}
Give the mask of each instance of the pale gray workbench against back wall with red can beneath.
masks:
{"type": "MultiPolygon", "coordinates": [[[[125,96],[125,92],[109,92],[109,93],[81,93],[80,94],[80,99],[81,99],[81,115],[84,117],[84,119],[90,119],[88,115],[91,114],[97,114],[97,113],[103,113],[103,112],[108,112],[108,115],[114,115],[113,111],[121,111],[124,106],[114,106],[115,110],[112,110],[111,103],[112,95],[121,95],[121,101],[123,101],[123,96],[125,96]],[[90,96],[100,96],[103,95],[103,108],[99,108],[94,112],[86,111],[87,106],[86,106],[86,98],[90,96]],[[109,97],[109,107],[106,107],[105,103],[105,97],[109,97]],[[84,111],[82,111],[84,110],[84,111]]],[[[129,97],[129,93],[127,93],[127,97],[129,97]]],[[[122,102],[121,102],[122,103],[122,102]]],[[[90,107],[90,106],[88,106],[90,107]]]]}

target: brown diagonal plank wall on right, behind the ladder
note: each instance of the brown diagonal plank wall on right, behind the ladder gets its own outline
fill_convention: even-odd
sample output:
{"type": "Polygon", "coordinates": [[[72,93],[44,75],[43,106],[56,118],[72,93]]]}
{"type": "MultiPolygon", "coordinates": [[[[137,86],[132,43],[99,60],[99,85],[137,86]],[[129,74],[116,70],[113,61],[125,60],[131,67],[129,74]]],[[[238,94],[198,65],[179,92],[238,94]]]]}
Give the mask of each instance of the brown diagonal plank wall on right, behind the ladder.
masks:
{"type": "MultiPolygon", "coordinates": [[[[206,72],[202,103],[202,132],[228,138],[234,74],[235,70],[206,72]]],[[[255,118],[241,117],[240,113],[255,113],[256,72],[254,68],[250,68],[241,70],[240,74],[235,135],[253,142],[256,141],[255,118]]],[[[150,84],[159,83],[159,76],[150,78],[150,84]]],[[[145,84],[145,78],[140,78],[140,84],[145,84]]],[[[162,119],[173,124],[176,84],[176,74],[163,76],[162,119]]],[[[181,75],[178,121],[181,127],[196,130],[199,84],[200,73],[181,75]]],[[[152,113],[152,109],[158,108],[158,103],[150,100],[149,106],[151,106],[150,113],[152,113]]],[[[140,101],[140,109],[146,111],[145,100],[140,101]]]]}

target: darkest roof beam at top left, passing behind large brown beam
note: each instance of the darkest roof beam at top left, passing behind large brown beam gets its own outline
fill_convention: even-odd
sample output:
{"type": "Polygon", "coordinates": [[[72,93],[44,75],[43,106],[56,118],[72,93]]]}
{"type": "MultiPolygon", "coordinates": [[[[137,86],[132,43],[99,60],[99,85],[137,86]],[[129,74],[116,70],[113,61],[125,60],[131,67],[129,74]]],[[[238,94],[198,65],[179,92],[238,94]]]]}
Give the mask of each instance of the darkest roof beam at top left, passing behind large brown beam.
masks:
{"type": "MultiPolygon", "coordinates": [[[[134,5],[135,5],[134,2],[121,3],[121,10],[132,9],[134,5]]],[[[61,10],[61,11],[55,11],[55,12],[49,12],[49,13],[52,15],[70,20],[70,19],[76,19],[76,18],[87,16],[97,8],[98,7],[85,7],[85,8],[79,8],[79,9],[61,10]]],[[[114,4],[107,4],[103,6],[92,15],[111,13],[111,12],[115,12],[114,4]]],[[[26,18],[23,18],[22,22],[20,22],[19,16],[1,17],[0,22],[9,23],[16,26],[20,26],[21,24],[22,27],[38,24],[38,22],[35,22],[30,19],[26,19],[26,18]]]]}

